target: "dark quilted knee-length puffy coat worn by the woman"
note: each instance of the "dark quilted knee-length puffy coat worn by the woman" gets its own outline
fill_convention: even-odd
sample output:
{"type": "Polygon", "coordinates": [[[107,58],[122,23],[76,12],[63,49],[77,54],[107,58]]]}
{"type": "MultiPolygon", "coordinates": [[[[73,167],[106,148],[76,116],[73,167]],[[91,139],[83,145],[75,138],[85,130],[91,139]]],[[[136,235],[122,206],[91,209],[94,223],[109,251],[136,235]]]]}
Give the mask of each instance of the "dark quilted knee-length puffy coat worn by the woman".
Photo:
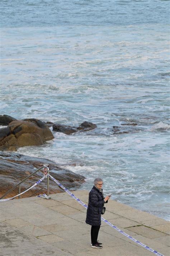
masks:
{"type": "Polygon", "coordinates": [[[101,225],[101,211],[104,206],[103,193],[95,186],[90,190],[86,223],[91,226],[101,225]]]}

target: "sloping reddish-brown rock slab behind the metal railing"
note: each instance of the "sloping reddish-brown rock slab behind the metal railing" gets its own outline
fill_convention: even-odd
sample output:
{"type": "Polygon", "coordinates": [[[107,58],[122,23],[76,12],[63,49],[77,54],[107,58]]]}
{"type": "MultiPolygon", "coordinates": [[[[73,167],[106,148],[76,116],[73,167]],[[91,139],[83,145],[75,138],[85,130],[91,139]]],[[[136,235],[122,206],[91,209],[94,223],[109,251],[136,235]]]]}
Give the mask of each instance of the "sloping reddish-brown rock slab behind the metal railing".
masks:
{"type": "MultiPolygon", "coordinates": [[[[48,165],[50,174],[68,189],[77,188],[85,180],[84,176],[66,170],[64,167],[61,167],[48,159],[29,157],[17,153],[0,152],[0,197],[19,183],[19,181],[23,180],[43,165],[48,165]]],[[[27,189],[30,185],[36,183],[36,181],[42,177],[43,171],[37,172],[21,185],[21,192],[27,189]]],[[[47,187],[46,179],[23,194],[21,198],[29,197],[43,187],[47,187]]],[[[58,187],[58,185],[51,179],[49,181],[49,188],[51,194],[63,192],[63,189],[58,187]]],[[[43,193],[47,194],[47,190],[43,189],[36,195],[43,193]]],[[[16,194],[18,194],[18,187],[10,192],[10,194],[6,195],[5,198],[13,197],[16,194]]]]}

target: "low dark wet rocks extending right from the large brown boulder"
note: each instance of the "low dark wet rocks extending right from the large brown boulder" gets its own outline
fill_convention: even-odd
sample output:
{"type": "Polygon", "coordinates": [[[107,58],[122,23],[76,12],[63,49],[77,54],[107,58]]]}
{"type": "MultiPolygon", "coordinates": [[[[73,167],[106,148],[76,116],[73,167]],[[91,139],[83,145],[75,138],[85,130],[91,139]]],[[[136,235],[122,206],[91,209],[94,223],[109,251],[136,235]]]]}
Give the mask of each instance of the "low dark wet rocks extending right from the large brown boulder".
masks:
{"type": "Polygon", "coordinates": [[[97,127],[97,125],[95,125],[94,123],[85,121],[85,122],[81,123],[81,125],[78,127],[60,125],[58,123],[54,124],[52,127],[53,127],[53,131],[58,131],[60,133],[65,133],[65,134],[72,134],[72,133],[77,133],[77,131],[93,130],[97,127]]]}

